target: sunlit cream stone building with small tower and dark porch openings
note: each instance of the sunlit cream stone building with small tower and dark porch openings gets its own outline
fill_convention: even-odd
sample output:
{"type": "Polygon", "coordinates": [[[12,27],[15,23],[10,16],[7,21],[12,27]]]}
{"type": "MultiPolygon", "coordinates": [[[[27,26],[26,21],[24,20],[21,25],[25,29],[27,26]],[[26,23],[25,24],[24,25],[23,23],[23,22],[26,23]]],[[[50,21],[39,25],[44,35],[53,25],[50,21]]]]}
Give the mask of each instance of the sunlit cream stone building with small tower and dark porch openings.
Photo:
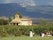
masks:
{"type": "Polygon", "coordinates": [[[20,18],[19,15],[16,14],[9,25],[32,25],[32,20],[27,17],[20,18]]]}

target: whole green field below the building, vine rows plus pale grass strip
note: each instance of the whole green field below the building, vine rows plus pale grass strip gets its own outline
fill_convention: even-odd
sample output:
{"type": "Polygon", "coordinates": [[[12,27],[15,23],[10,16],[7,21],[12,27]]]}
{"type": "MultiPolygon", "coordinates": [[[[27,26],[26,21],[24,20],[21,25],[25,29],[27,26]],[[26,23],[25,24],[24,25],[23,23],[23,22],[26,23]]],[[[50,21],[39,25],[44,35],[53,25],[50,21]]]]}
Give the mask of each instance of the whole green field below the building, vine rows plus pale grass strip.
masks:
{"type": "MultiPolygon", "coordinates": [[[[48,37],[41,37],[40,32],[42,31],[52,31],[53,32],[53,25],[45,26],[11,26],[11,25],[0,25],[0,40],[53,40],[53,36],[48,37]],[[19,30],[18,30],[19,29],[19,30]],[[35,33],[35,36],[30,38],[28,36],[29,31],[35,33]],[[22,34],[24,33],[24,34],[22,34]],[[38,35],[37,35],[38,34],[38,35]]],[[[49,32],[50,32],[49,31],[49,32]]]]}

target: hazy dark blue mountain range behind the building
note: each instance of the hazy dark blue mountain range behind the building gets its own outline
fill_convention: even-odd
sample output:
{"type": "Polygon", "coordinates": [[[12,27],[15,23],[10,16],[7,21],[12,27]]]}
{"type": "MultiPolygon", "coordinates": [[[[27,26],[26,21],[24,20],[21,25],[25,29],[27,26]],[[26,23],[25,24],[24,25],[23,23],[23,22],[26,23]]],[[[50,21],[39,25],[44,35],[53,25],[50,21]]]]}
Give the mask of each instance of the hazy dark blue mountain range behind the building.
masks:
{"type": "Polygon", "coordinates": [[[53,19],[53,6],[51,5],[22,7],[17,3],[0,4],[0,16],[13,16],[15,12],[21,12],[22,15],[32,18],[53,19]]]}

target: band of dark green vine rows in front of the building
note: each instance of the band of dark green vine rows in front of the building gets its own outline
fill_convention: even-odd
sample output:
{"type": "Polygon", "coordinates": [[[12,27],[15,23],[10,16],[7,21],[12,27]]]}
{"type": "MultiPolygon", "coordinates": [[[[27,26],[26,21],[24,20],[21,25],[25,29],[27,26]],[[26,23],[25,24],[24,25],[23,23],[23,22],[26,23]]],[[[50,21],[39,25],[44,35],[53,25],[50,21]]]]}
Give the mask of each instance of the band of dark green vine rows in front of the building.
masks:
{"type": "Polygon", "coordinates": [[[0,36],[8,36],[8,35],[14,35],[14,36],[29,36],[29,32],[32,30],[35,35],[40,35],[42,32],[50,32],[53,34],[53,24],[49,25],[37,25],[37,26],[12,26],[12,25],[0,25],[0,36]]]}

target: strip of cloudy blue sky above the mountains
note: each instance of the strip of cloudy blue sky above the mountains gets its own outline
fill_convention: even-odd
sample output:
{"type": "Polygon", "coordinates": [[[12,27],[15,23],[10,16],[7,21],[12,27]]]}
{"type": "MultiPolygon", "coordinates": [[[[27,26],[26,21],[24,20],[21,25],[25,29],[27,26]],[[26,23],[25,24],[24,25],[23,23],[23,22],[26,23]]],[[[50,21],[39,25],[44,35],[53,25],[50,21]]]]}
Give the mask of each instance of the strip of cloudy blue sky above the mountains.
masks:
{"type": "Polygon", "coordinates": [[[53,5],[53,0],[0,0],[0,3],[24,3],[29,5],[53,5]]]}

